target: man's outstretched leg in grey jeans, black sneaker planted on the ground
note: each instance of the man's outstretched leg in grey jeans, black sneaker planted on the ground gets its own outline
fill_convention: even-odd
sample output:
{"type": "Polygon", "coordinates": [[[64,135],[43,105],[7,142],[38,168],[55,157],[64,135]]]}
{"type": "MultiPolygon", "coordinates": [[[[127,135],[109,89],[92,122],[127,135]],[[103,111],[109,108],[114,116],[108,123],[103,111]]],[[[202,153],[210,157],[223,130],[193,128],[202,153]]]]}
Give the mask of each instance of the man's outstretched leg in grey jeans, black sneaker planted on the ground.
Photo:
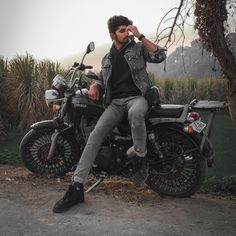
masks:
{"type": "Polygon", "coordinates": [[[97,156],[100,145],[108,133],[120,122],[123,117],[122,106],[112,102],[103,112],[95,129],[90,134],[78,166],[74,172],[73,185],[69,186],[62,199],[53,207],[55,213],[61,213],[70,207],[84,201],[83,183],[89,174],[93,162],[97,156]]]}

